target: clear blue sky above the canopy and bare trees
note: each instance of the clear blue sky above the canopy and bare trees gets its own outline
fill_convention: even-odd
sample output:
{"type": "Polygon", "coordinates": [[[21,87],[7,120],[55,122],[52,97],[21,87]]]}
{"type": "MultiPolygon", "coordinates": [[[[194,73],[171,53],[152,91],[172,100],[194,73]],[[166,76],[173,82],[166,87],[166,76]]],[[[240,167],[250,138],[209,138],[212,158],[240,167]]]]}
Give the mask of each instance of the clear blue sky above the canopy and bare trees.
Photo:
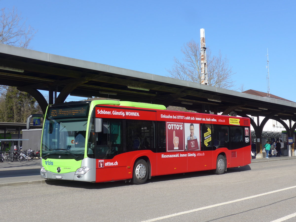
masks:
{"type": "Polygon", "coordinates": [[[13,6],[38,30],[33,50],[163,76],[204,28],[245,90],[267,92],[268,48],[270,93],[296,102],[296,1],[0,0],[13,6]]]}

